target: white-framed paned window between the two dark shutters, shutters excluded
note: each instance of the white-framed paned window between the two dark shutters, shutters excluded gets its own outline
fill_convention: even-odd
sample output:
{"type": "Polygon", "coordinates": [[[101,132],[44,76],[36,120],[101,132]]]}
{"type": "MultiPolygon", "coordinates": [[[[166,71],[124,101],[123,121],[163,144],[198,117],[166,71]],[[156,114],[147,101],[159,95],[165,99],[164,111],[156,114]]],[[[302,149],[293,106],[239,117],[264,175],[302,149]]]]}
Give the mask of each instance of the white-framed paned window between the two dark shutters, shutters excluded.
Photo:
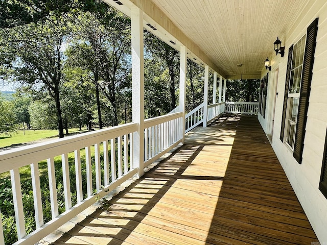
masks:
{"type": "Polygon", "coordinates": [[[293,47],[291,75],[288,90],[288,116],[286,120],[285,142],[291,149],[294,147],[298,100],[300,97],[303,56],[305,53],[306,36],[303,36],[293,47]]]}

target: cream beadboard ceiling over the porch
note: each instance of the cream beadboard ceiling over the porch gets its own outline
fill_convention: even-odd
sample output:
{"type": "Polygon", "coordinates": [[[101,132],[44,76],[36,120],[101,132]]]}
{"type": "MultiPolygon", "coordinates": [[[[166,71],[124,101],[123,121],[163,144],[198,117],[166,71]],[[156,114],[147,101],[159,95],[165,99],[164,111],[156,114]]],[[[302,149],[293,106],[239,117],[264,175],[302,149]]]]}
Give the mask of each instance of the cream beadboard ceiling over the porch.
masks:
{"type": "MultiPolygon", "coordinates": [[[[120,8],[115,3],[116,0],[105,0],[105,2],[120,8]]],[[[152,18],[149,21],[152,21],[159,32],[151,29],[150,31],[164,40],[167,39],[167,33],[162,33],[158,22],[160,18],[168,18],[172,23],[164,27],[166,29],[164,32],[177,28],[178,32],[187,37],[190,47],[197,47],[211,61],[210,63],[214,64],[215,67],[211,68],[224,78],[237,79],[242,74],[243,79],[246,79],[261,77],[265,59],[270,57],[271,60],[275,55],[273,42],[277,36],[282,40],[282,46],[288,46],[285,37],[292,30],[293,24],[299,21],[303,16],[302,12],[311,8],[316,1],[122,0],[120,2],[125,6],[134,4],[141,8],[145,13],[145,19],[152,18]],[[237,64],[242,66],[238,67],[237,64]]],[[[177,45],[183,42],[183,38],[175,35],[173,38],[177,45]]],[[[199,63],[202,61],[208,63],[202,57],[198,57],[197,52],[193,53],[191,48],[191,58],[200,59],[199,63]]]]}

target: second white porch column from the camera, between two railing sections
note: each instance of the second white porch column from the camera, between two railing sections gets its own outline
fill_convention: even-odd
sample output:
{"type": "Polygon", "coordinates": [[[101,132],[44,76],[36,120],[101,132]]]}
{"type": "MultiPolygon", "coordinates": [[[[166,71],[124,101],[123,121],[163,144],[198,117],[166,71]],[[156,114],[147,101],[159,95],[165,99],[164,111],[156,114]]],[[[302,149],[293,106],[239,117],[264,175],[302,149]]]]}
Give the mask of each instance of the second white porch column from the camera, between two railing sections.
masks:
{"type": "Polygon", "coordinates": [[[183,119],[181,121],[181,134],[182,134],[182,143],[185,141],[185,101],[186,101],[186,63],[187,54],[186,47],[180,47],[180,64],[179,64],[179,111],[183,113],[183,119]]]}

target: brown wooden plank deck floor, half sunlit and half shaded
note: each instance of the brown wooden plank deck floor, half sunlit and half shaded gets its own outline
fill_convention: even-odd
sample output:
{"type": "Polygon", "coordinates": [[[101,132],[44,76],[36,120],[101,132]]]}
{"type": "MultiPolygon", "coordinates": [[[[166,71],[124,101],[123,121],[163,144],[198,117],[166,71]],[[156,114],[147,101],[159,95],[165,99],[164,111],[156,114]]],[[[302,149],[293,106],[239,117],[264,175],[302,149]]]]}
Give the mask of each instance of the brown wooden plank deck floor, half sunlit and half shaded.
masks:
{"type": "Polygon", "coordinates": [[[225,116],[53,244],[311,244],[317,238],[258,120],[225,116]]]}

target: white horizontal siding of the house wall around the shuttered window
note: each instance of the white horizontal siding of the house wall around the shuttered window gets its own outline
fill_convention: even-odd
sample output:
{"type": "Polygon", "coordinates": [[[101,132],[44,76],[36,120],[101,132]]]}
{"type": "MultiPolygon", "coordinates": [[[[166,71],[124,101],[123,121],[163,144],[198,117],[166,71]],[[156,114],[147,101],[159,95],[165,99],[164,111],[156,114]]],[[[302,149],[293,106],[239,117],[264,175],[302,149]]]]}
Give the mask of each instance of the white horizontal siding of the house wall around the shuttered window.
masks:
{"type": "MultiPolygon", "coordinates": [[[[327,128],[327,3],[325,0],[312,1],[310,9],[305,11],[306,13],[299,16],[297,23],[294,23],[293,32],[281,33],[279,36],[282,45],[285,45],[284,58],[281,58],[279,54],[278,56],[274,54],[269,57],[269,59],[271,58],[272,71],[276,68],[279,69],[272,146],[319,241],[322,244],[327,244],[327,199],[318,189],[327,128]],[[288,48],[306,34],[307,27],[316,17],[319,18],[318,34],[307,114],[305,146],[302,154],[302,164],[298,164],[293,158],[292,152],[279,139],[287,56],[288,48]]],[[[272,83],[272,71],[269,72],[268,84],[272,83]]],[[[263,69],[262,77],[265,75],[266,69],[263,69]]],[[[271,86],[268,87],[269,95],[271,94],[270,89],[272,89],[271,86]]],[[[267,97],[267,105],[268,103],[271,103],[269,97],[267,97]]],[[[269,108],[272,110],[268,106],[267,109],[269,108]]],[[[266,111],[266,115],[269,113],[269,111],[266,111]]],[[[264,119],[259,115],[258,118],[265,132],[269,133],[269,129],[267,129],[268,117],[264,119]]]]}

